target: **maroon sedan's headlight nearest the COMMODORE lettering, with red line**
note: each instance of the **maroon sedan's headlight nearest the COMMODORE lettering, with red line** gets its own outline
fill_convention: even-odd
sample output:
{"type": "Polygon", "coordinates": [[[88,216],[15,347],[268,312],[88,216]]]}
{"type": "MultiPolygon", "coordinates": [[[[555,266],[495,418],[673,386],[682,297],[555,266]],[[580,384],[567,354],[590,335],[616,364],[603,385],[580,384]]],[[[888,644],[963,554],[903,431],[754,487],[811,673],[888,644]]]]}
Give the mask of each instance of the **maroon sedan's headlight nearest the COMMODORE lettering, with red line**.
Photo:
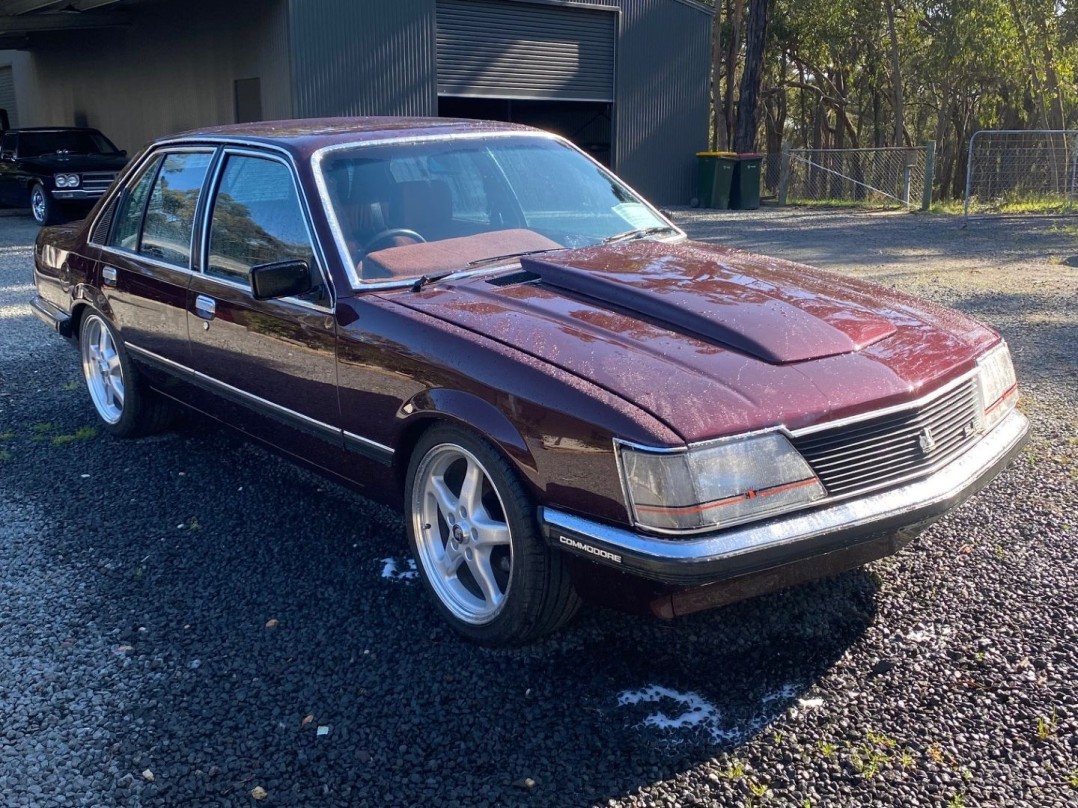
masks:
{"type": "Polygon", "coordinates": [[[777,432],[657,451],[618,444],[634,521],[700,532],[792,511],[827,496],[804,458],[777,432]]]}

